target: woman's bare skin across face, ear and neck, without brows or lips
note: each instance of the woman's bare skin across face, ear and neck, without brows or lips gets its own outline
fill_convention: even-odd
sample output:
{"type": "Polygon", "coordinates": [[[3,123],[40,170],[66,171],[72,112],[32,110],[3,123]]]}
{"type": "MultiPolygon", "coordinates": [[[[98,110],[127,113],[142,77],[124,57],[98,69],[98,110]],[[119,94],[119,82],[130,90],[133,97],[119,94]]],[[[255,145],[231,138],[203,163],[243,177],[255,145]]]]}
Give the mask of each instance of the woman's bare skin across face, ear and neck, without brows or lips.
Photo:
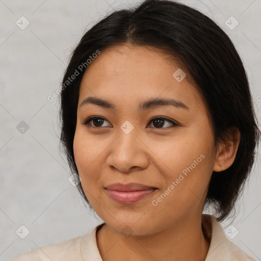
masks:
{"type": "Polygon", "coordinates": [[[73,149],[86,197],[106,223],[96,234],[103,261],[204,260],[210,246],[201,228],[208,184],[213,171],[233,163],[240,134],[234,136],[238,141],[214,147],[200,94],[188,77],[181,82],[174,79],[173,72],[182,67],[168,58],[152,47],[113,46],[103,50],[83,76],[73,149]],[[116,109],[93,104],[80,108],[89,96],[109,100],[116,109]],[[164,97],[184,102],[189,111],[172,106],[138,110],[139,103],[164,97]],[[81,124],[93,115],[105,120],[81,124]],[[154,116],[178,125],[171,127],[165,120],[161,127],[151,121],[154,116]],[[129,134],[120,128],[126,120],[134,127],[129,134]],[[201,154],[205,158],[164,200],[152,205],[201,154]],[[105,190],[115,182],[159,189],[135,204],[123,205],[105,190]],[[125,226],[131,237],[124,236],[125,226]]]}

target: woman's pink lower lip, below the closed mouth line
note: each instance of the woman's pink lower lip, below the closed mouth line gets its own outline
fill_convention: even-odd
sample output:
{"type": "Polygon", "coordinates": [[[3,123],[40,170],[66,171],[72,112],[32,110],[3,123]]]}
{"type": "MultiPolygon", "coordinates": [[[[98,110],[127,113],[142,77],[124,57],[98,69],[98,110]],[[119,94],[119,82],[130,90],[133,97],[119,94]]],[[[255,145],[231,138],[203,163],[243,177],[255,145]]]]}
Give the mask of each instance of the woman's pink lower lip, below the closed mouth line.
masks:
{"type": "Polygon", "coordinates": [[[139,191],[116,191],[106,189],[106,191],[112,199],[122,204],[136,203],[142,198],[152,194],[155,190],[156,189],[147,189],[139,191]]]}

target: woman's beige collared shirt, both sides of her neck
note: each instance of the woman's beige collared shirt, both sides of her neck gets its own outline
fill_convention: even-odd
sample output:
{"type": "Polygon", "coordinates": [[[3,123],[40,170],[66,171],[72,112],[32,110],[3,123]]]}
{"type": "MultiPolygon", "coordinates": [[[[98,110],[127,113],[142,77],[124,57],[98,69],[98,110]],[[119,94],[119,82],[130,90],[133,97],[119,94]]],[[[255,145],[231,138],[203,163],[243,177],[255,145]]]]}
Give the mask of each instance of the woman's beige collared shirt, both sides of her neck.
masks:
{"type": "MultiPolygon", "coordinates": [[[[105,223],[96,226],[85,236],[31,250],[11,261],[102,261],[96,243],[96,231],[103,224],[105,223]]],[[[226,238],[215,217],[202,214],[202,228],[205,237],[211,240],[205,261],[256,261],[226,238]]]]}

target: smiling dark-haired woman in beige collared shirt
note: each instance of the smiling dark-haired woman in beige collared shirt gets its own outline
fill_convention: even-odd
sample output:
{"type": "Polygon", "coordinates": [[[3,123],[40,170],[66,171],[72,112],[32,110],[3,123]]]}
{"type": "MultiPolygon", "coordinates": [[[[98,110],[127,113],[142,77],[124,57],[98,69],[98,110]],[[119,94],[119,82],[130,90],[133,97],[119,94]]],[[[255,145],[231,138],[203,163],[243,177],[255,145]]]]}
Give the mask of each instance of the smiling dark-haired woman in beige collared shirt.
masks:
{"type": "Polygon", "coordinates": [[[219,224],[260,131],[242,61],[214,21],[173,1],[115,11],[76,46],[61,91],[61,142],[104,223],[14,261],[254,260],[219,224]]]}

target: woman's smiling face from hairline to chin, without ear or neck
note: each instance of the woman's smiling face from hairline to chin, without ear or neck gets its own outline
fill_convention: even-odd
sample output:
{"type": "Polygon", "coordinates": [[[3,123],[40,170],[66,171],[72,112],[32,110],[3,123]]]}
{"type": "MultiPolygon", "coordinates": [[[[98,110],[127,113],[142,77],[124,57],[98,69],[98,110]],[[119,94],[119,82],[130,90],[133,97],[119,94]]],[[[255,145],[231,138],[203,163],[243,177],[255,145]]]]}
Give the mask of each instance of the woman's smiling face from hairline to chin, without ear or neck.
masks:
{"type": "Polygon", "coordinates": [[[81,83],[75,163],[95,212],[120,233],[127,225],[134,235],[150,234],[202,214],[214,136],[199,93],[167,58],[152,48],[114,46],[89,64],[81,83]],[[81,106],[88,97],[113,108],[107,102],[81,106]],[[158,99],[176,102],[146,103],[158,99]],[[82,124],[90,116],[96,118],[82,124]],[[157,189],[136,202],[124,195],[117,201],[106,189],[131,182],[157,189]]]}

